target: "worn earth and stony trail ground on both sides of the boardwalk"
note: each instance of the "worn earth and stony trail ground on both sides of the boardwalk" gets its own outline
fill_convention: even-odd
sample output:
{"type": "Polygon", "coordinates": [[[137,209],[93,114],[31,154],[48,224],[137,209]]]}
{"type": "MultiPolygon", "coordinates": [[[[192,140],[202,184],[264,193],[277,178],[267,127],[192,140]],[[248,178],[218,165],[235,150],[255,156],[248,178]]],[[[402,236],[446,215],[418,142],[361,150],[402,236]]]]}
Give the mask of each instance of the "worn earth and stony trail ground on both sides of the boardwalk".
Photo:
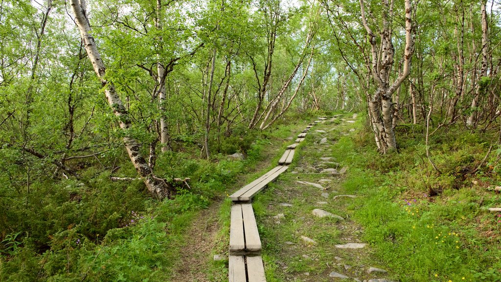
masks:
{"type": "MultiPolygon", "coordinates": [[[[314,126],[307,140],[298,147],[291,168],[254,200],[268,281],[332,281],[342,279],[333,276],[343,275],[362,281],[391,276],[391,271],[390,274],[367,273],[369,267],[385,268],[371,258],[369,246],[336,247],[363,243],[362,227],[351,220],[351,197],[362,195],[336,197],[347,194],[341,186],[343,174],[320,174],[328,168],[342,169],[330,157],[330,152],[337,135],[354,131],[352,114],[346,116],[349,117],[334,117],[314,126]],[[325,190],[297,181],[321,184],[325,190]],[[339,215],[343,220],[329,216],[319,218],[312,214],[314,209],[339,215]],[[306,242],[302,236],[315,242],[306,242]]],[[[306,124],[292,132],[292,136],[304,127],[306,124]]],[[[292,144],[290,140],[284,141],[292,144]]],[[[266,172],[283,151],[275,147],[265,152],[265,156],[274,158],[260,162],[255,169],[260,173],[256,176],[241,177],[234,185],[235,190],[266,172]]],[[[213,255],[227,255],[229,205],[229,201],[216,201],[195,217],[187,231],[186,244],[181,248],[181,260],[174,269],[173,281],[227,280],[224,269],[227,262],[214,262],[213,255]]]]}

